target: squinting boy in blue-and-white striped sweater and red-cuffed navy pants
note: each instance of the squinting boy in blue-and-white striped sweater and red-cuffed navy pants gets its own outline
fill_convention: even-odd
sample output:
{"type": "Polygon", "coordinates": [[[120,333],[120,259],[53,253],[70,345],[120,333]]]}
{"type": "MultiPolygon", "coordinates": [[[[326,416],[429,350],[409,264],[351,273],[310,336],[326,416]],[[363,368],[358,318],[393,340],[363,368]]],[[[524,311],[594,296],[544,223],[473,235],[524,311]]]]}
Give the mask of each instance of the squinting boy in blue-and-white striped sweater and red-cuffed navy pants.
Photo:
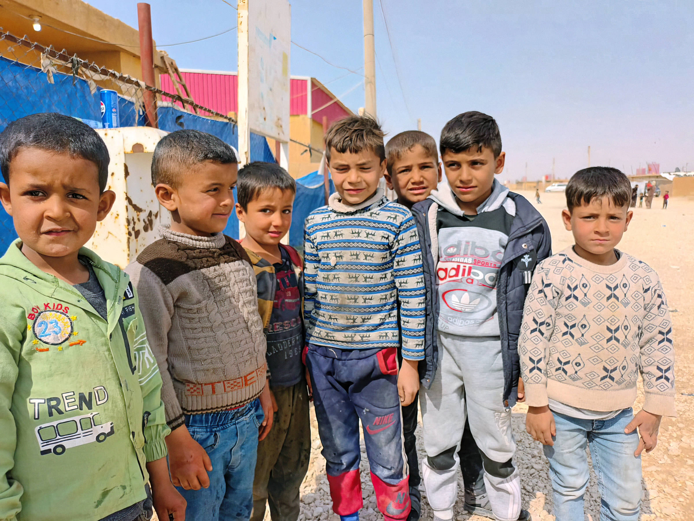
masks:
{"type": "Polygon", "coordinates": [[[378,508],[386,520],[405,520],[411,506],[400,405],[414,400],[424,358],[418,235],[412,213],[378,188],[386,160],[374,119],[336,122],[325,149],[337,193],[306,220],[304,311],[332,508],[341,521],[359,519],[362,420],[378,508]]]}

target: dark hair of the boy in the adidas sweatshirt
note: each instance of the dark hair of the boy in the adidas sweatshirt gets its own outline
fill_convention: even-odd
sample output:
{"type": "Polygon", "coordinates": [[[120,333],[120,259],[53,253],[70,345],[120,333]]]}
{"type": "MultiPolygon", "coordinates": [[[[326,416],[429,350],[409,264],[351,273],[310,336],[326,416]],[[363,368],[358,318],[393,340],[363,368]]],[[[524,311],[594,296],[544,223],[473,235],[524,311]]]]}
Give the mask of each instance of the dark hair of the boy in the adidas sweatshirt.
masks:
{"type": "Polygon", "coordinates": [[[501,154],[501,133],[493,117],[481,112],[466,112],[451,119],[441,131],[439,140],[441,156],[450,150],[460,154],[472,147],[482,151],[482,147],[490,148],[494,158],[501,154]]]}

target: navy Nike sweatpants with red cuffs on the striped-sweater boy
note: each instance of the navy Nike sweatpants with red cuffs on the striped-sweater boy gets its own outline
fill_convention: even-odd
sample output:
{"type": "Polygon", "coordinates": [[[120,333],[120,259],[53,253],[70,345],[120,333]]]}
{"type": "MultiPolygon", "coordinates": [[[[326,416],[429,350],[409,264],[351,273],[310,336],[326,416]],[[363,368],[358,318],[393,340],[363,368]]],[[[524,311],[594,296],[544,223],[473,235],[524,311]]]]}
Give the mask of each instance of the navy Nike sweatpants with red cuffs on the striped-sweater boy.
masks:
{"type": "Polygon", "coordinates": [[[378,509],[386,520],[406,519],[410,502],[396,349],[337,349],[310,344],[306,365],[332,510],[350,515],[363,506],[359,479],[362,420],[378,509]]]}

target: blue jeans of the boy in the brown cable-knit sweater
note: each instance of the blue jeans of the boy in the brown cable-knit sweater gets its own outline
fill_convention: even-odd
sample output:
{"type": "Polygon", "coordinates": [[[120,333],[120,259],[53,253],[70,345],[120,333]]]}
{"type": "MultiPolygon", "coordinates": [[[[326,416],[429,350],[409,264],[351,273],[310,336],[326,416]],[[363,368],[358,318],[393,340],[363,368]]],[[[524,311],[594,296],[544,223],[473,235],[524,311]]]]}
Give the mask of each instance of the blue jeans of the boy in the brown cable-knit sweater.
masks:
{"type": "Polygon", "coordinates": [[[258,427],[264,419],[260,399],[233,411],[185,416],[190,435],[210,456],[209,488],[185,490],[188,521],[249,520],[258,427]]]}

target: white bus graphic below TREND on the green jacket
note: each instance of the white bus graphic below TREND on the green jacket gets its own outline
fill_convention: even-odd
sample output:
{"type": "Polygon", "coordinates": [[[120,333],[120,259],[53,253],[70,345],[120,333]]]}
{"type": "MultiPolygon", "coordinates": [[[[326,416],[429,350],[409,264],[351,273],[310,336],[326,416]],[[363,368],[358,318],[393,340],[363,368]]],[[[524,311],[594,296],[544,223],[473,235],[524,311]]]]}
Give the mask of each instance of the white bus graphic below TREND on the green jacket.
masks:
{"type": "Polygon", "coordinates": [[[89,413],[36,427],[36,439],[41,447],[41,455],[53,452],[60,456],[70,447],[94,441],[104,442],[113,434],[113,422],[99,424],[98,415],[99,413],[89,413]]]}

